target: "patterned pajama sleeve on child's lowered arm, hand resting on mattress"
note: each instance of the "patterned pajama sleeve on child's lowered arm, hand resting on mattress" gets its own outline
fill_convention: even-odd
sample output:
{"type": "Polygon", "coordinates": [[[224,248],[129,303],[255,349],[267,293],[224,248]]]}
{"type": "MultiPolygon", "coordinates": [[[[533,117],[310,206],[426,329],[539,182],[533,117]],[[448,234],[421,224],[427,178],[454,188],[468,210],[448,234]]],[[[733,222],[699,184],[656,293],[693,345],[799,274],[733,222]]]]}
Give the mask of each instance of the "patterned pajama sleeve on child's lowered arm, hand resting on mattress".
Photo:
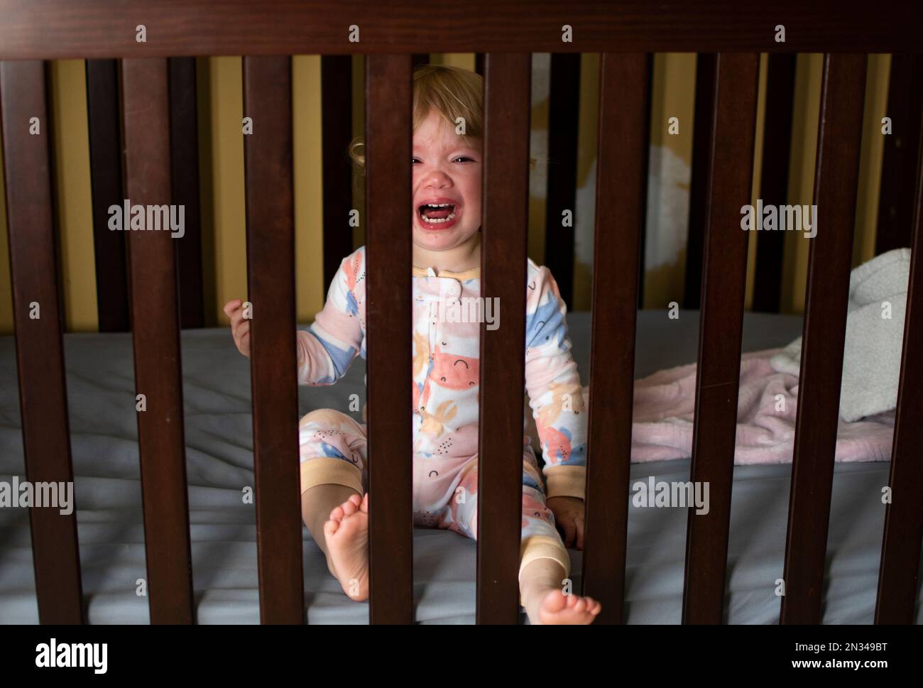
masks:
{"type": "Polygon", "coordinates": [[[588,412],[570,352],[567,305],[546,267],[530,272],[525,384],[545,459],[547,496],[583,499],[588,412]]]}

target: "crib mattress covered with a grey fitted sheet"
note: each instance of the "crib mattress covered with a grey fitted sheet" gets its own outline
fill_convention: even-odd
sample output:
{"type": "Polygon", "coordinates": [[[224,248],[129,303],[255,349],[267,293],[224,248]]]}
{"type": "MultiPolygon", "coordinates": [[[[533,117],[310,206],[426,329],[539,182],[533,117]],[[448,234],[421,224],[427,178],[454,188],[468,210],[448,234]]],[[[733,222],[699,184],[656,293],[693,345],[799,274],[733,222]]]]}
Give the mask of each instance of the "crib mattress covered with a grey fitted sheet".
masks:
{"type": "MultiPolygon", "coordinates": [[[[748,313],[743,350],[784,346],[800,317],[748,313]]],[[[588,382],[590,317],[569,315],[574,356],[588,382]]],[[[636,377],[695,360],[698,311],[640,311],[636,377]]],[[[258,623],[255,514],[241,490],[253,485],[250,377],[228,329],[182,332],[186,462],[197,621],[258,623]]],[[[83,590],[90,623],[148,623],[140,512],[131,335],[66,334],[67,395],[83,590]]],[[[365,397],[364,361],[330,387],[300,387],[299,411],[345,408],[365,397]]],[[[0,480],[24,476],[15,346],[0,337],[0,480]]],[[[355,414],[358,417],[358,413],[355,414]]],[[[823,622],[870,623],[874,613],[888,464],[837,464],[828,538],[823,622]]],[[[727,567],[729,623],[778,621],[790,465],[736,466],[727,567]]],[[[686,480],[689,459],[631,466],[632,482],[686,480]]],[[[626,621],[680,621],[687,512],[629,507],[626,621]]],[[[306,528],[306,620],[366,623],[367,603],[342,594],[306,528]]],[[[571,549],[579,585],[581,552],[571,549]]],[[[414,618],[473,623],[475,543],[449,531],[414,530],[414,618]]],[[[577,588],[579,589],[579,588],[577,588]]],[[[524,616],[523,616],[524,618],[524,616]]],[[[37,623],[26,510],[0,509],[0,622],[37,623]]],[[[917,622],[920,622],[917,615],[917,622]]]]}

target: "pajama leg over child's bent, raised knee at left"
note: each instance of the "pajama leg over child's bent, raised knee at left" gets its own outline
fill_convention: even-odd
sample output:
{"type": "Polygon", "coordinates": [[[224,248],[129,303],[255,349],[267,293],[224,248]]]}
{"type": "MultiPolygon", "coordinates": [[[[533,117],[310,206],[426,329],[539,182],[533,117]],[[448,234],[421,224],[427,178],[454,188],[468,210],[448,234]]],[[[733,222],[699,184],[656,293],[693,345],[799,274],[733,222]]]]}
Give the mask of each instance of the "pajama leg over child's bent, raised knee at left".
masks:
{"type": "Polygon", "coordinates": [[[301,492],[316,485],[345,485],[360,497],[368,489],[367,427],[330,408],[298,422],[301,492]]]}

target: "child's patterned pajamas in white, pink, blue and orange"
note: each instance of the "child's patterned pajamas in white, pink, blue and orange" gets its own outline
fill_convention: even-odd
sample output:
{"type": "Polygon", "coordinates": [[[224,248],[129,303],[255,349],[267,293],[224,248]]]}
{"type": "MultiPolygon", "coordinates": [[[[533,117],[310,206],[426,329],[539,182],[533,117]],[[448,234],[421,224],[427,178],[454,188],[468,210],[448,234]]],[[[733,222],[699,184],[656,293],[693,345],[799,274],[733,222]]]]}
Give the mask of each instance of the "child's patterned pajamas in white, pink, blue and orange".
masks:
{"type": "MultiPolygon", "coordinates": [[[[483,321],[487,336],[503,325],[500,304],[481,299],[479,269],[438,275],[432,268],[413,271],[414,523],[476,538],[480,337],[483,321]]],[[[366,357],[365,277],[361,247],[342,260],[310,328],[297,332],[300,384],[333,384],[355,356],[366,357]]],[[[569,555],[545,495],[583,499],[583,388],[570,356],[567,308],[551,272],[528,260],[524,286],[525,384],[545,466],[539,471],[531,439],[524,436],[520,573],[529,561],[548,558],[569,574],[569,555]]],[[[326,483],[360,495],[366,491],[365,424],[320,409],[302,418],[299,428],[302,492],[326,483]]]]}

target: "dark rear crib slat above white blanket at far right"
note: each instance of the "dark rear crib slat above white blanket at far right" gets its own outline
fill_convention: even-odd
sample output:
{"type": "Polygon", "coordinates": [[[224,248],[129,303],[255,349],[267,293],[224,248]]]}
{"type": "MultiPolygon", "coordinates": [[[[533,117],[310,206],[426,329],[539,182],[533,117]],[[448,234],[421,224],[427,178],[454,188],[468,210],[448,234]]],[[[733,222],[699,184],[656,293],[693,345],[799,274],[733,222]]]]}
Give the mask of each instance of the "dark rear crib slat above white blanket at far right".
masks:
{"type": "MultiPolygon", "coordinates": [[[[923,54],[893,54],[888,88],[892,133],[884,137],[875,254],[910,246],[923,114],[923,54]]],[[[881,131],[881,122],[875,125],[881,131]]]]}

